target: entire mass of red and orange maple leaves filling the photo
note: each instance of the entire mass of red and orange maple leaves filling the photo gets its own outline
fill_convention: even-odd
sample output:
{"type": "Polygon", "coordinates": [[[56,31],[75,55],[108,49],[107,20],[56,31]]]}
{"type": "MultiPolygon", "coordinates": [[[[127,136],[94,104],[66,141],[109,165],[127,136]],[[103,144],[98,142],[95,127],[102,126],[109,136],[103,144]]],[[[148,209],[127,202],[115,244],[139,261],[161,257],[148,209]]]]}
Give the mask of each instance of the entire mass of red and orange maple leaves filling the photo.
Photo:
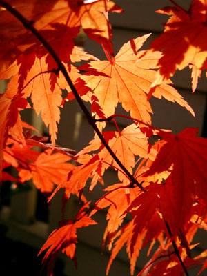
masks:
{"type": "Polygon", "coordinates": [[[207,267],[207,249],[196,257],[190,253],[197,230],[207,230],[207,139],[197,137],[195,128],[173,135],[151,126],[149,101],[164,98],[195,116],[170,77],[189,66],[194,92],[207,68],[207,2],[194,0],[188,10],[170,2],[157,11],[169,19],[148,50],[141,50],[150,36],[145,34],[114,55],[108,14],[122,10],[113,1],[0,1],[0,78],[9,80],[0,95],[1,181],[22,185],[32,179],[49,201],[63,188],[65,201],[73,194],[83,203],[75,219],[60,218],[41,248],[48,275],[61,251],[76,264],[77,228],[97,224],[92,216],[103,208],[108,208],[103,244],[111,251],[107,275],[125,244],[132,275],[147,244],[157,248],[139,275],[188,275],[192,267],[199,266],[199,273],[207,267]],[[75,46],[80,30],[102,46],[106,60],[75,46]],[[95,130],[80,152],[56,145],[60,108],[74,99],[95,130]],[[127,115],[115,113],[118,103],[127,115]],[[25,108],[41,113],[51,143],[32,135],[34,127],[21,120],[25,108]],[[122,131],[117,117],[130,119],[122,131]],[[111,120],[116,131],[105,130],[111,120]],[[10,166],[17,178],[5,171],[10,166]],[[90,204],[85,186],[92,191],[103,183],[110,167],[119,183],[90,204]]]}

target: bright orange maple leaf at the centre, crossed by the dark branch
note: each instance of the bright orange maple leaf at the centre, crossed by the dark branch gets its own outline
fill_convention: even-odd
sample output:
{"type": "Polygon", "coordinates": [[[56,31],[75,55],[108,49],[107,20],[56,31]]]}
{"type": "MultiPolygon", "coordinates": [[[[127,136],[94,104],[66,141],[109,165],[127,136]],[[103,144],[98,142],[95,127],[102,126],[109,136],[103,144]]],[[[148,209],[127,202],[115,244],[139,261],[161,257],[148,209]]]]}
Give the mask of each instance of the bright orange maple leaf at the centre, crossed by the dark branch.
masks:
{"type": "MultiPolygon", "coordinates": [[[[135,166],[135,155],[139,155],[139,157],[149,157],[154,160],[157,154],[156,150],[150,148],[150,143],[146,139],[146,136],[139,130],[135,124],[129,125],[122,132],[103,132],[103,137],[106,139],[108,145],[113,150],[115,155],[119,158],[122,164],[127,168],[127,170],[132,173],[132,168],[135,166]]],[[[93,177],[102,177],[105,170],[108,169],[110,164],[115,166],[115,169],[119,168],[117,163],[112,159],[111,155],[108,153],[108,150],[103,146],[100,139],[96,137],[92,141],[90,141],[89,146],[83,148],[78,154],[78,161],[81,155],[85,155],[88,152],[92,152],[95,150],[99,150],[96,154],[99,159],[100,166],[93,170],[93,177]]],[[[121,169],[118,171],[118,177],[120,181],[128,184],[129,180],[126,175],[121,172],[121,169]]],[[[95,186],[97,181],[92,182],[92,186],[90,190],[95,186]]]]}

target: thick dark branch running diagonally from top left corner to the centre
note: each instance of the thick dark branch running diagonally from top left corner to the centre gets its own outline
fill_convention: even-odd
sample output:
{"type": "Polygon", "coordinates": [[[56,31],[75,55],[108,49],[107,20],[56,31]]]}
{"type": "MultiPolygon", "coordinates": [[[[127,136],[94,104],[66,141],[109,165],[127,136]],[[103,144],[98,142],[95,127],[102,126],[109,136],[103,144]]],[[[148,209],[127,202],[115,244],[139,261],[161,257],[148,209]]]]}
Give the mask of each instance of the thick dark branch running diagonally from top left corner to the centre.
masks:
{"type": "Polygon", "coordinates": [[[133,177],[130,174],[130,172],[125,168],[125,166],[121,163],[121,161],[117,158],[115,153],[112,151],[110,146],[108,146],[106,140],[103,138],[103,135],[99,131],[99,128],[97,128],[97,125],[95,124],[94,119],[92,118],[92,116],[90,115],[90,112],[88,112],[86,106],[84,105],[81,97],[79,96],[75,86],[73,85],[73,83],[72,83],[72,81],[71,81],[71,79],[68,75],[68,72],[66,71],[65,66],[63,65],[63,63],[59,59],[59,57],[56,54],[55,50],[53,50],[53,48],[50,46],[48,41],[46,41],[46,39],[44,39],[44,37],[39,33],[39,31],[36,28],[34,28],[33,22],[28,21],[25,17],[23,17],[23,15],[21,15],[16,9],[12,8],[12,6],[10,6],[10,4],[6,3],[5,1],[0,1],[0,5],[3,6],[4,8],[6,8],[8,10],[8,12],[10,12],[11,14],[14,15],[14,17],[17,17],[17,19],[19,19],[19,21],[21,21],[23,26],[26,29],[30,30],[34,34],[34,36],[37,37],[37,39],[39,39],[39,41],[41,41],[41,43],[43,43],[43,46],[45,46],[45,48],[48,50],[50,55],[52,55],[53,59],[55,59],[55,61],[57,63],[57,66],[58,66],[57,70],[59,70],[63,73],[63,76],[65,77],[66,81],[68,82],[68,85],[70,86],[70,89],[72,90],[73,95],[77,99],[77,102],[79,103],[79,106],[81,107],[81,109],[83,110],[83,113],[86,115],[86,117],[88,119],[88,124],[90,124],[92,126],[92,128],[95,130],[95,132],[97,133],[99,139],[103,143],[103,146],[105,146],[105,148],[108,150],[108,152],[110,153],[112,158],[117,162],[117,164],[119,165],[121,170],[123,170],[126,173],[128,178],[130,179],[131,183],[136,184],[142,190],[143,188],[142,188],[141,184],[139,184],[137,179],[135,179],[135,177],[133,177]]]}

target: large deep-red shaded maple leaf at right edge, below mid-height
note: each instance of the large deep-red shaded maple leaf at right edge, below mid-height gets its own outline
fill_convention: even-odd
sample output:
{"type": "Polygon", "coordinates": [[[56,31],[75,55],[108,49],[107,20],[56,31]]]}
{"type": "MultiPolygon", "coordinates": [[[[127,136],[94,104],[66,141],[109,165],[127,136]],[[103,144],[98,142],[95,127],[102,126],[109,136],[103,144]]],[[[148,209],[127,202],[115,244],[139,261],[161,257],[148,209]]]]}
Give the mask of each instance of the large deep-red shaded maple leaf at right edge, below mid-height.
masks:
{"type": "Polygon", "coordinates": [[[177,135],[160,131],[158,135],[166,143],[145,174],[148,176],[170,170],[172,188],[168,192],[166,190],[166,195],[173,193],[175,204],[172,205],[177,217],[176,228],[184,223],[195,196],[204,199],[207,204],[205,192],[207,140],[196,137],[197,132],[197,128],[186,128],[177,135]]]}

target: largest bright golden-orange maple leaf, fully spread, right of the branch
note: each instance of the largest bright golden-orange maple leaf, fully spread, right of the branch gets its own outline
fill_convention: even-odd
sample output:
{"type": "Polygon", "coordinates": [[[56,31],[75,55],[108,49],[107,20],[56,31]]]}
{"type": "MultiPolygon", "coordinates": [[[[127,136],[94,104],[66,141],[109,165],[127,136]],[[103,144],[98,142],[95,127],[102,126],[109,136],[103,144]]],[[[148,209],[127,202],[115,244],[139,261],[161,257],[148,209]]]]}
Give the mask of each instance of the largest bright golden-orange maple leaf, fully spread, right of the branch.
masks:
{"type": "MultiPolygon", "coordinates": [[[[131,117],[150,123],[149,112],[152,112],[152,109],[148,93],[155,81],[156,72],[152,69],[156,68],[160,53],[150,55],[146,51],[137,52],[149,35],[131,39],[113,59],[108,56],[108,61],[92,61],[79,68],[88,71],[81,79],[86,81],[93,95],[99,100],[99,106],[106,117],[115,113],[115,107],[120,102],[127,112],[130,111],[131,117]]],[[[168,83],[156,87],[153,95],[159,99],[165,97],[169,101],[177,101],[194,115],[188,103],[168,83]]],[[[84,95],[84,88],[77,90],[84,95]]],[[[87,94],[82,97],[88,101],[91,96],[87,94]]]]}

